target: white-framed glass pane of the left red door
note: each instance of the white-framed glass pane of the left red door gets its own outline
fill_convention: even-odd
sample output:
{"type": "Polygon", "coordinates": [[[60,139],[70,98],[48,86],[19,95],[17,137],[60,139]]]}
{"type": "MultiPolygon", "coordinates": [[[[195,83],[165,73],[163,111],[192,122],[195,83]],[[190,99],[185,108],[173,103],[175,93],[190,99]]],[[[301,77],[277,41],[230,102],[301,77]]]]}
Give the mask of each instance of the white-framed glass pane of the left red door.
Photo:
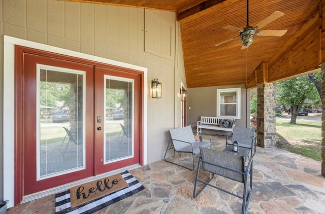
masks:
{"type": "Polygon", "coordinates": [[[42,180],[85,165],[85,74],[37,67],[37,178],[42,180]]]}

